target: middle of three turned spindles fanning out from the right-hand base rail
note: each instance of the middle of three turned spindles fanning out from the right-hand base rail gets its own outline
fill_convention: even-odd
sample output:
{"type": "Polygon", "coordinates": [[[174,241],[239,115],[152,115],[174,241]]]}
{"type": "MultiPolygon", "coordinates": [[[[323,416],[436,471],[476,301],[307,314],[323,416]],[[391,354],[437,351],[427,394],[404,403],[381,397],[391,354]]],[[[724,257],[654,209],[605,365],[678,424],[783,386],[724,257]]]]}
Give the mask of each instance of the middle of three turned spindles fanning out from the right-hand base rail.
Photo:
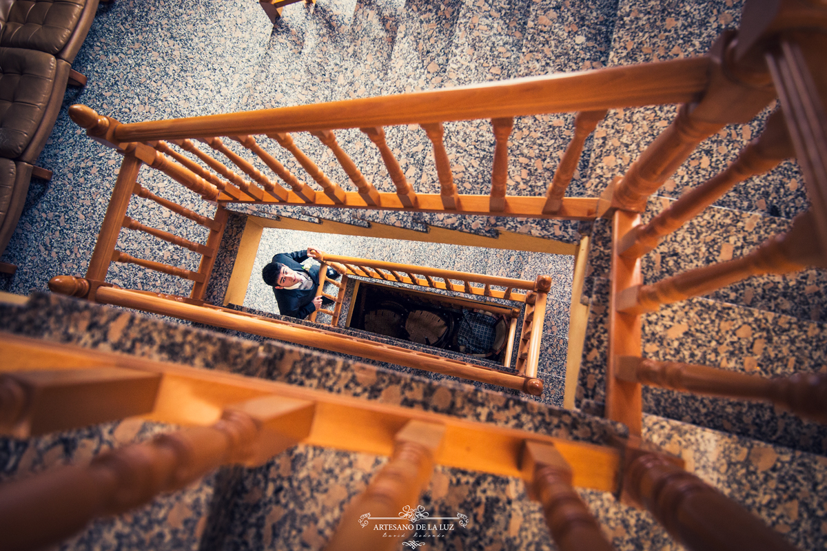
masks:
{"type": "Polygon", "coordinates": [[[689,270],[652,285],[624,289],[618,294],[616,310],[627,314],[657,311],[662,304],[699,297],[753,275],[784,274],[808,265],[824,265],[827,259],[811,239],[812,228],[813,216],[807,211],[796,216],[786,234],[765,241],[739,259],[689,270]]]}

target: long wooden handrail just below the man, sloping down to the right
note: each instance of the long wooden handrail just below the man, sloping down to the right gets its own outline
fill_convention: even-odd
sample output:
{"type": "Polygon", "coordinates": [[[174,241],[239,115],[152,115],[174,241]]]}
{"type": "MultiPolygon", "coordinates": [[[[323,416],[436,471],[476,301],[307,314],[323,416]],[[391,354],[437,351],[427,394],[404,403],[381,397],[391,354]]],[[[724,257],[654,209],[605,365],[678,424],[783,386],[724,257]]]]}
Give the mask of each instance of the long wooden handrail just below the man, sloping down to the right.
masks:
{"type": "MultiPolygon", "coordinates": [[[[72,278],[72,276],[57,277],[64,281],[72,278]]],[[[55,290],[62,291],[69,288],[76,287],[63,285],[55,288],[55,290]]],[[[500,387],[514,388],[534,396],[540,396],[543,393],[543,382],[538,378],[504,373],[476,364],[443,358],[435,354],[418,352],[390,344],[380,347],[371,340],[340,335],[290,323],[289,321],[272,320],[260,316],[245,316],[237,311],[219,306],[195,306],[115,287],[98,287],[93,298],[95,302],[103,304],[135,308],[136,310],[153,312],[163,316],[172,316],[225,329],[239,330],[252,335],[261,335],[270,339],[284,340],[313,348],[323,348],[342,354],[404,365],[409,368],[425,369],[434,373],[451,375],[452,377],[486,382],[500,387]]]]}

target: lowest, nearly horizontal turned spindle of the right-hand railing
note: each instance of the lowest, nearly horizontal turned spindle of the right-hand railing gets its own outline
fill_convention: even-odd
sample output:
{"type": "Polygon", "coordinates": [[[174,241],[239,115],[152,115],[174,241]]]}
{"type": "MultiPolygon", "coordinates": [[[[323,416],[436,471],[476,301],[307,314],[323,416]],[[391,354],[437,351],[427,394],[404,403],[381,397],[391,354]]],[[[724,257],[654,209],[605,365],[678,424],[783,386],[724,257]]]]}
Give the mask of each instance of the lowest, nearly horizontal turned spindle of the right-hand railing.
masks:
{"type": "Polygon", "coordinates": [[[621,356],[616,377],[680,392],[771,401],[797,416],[827,423],[827,375],[824,373],[765,378],[706,365],[621,356]]]}

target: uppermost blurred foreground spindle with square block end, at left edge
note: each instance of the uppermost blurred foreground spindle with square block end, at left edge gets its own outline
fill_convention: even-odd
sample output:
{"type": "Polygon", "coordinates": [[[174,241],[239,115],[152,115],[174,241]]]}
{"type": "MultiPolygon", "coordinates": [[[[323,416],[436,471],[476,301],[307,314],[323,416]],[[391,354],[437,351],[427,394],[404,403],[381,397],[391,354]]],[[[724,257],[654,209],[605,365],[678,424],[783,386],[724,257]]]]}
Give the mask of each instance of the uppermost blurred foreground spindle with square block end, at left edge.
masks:
{"type": "Polygon", "coordinates": [[[160,378],[123,368],[0,375],[0,434],[30,438],[149,413],[160,378]]]}

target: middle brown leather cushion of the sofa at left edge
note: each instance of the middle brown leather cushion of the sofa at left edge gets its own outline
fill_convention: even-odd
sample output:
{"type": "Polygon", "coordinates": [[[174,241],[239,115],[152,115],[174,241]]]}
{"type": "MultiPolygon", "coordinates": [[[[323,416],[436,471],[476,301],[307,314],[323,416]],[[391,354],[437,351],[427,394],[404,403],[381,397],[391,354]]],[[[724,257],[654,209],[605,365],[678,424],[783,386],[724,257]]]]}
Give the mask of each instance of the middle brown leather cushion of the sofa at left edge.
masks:
{"type": "Polygon", "coordinates": [[[0,48],[0,155],[26,149],[54,88],[57,59],[36,50],[0,48]]]}

